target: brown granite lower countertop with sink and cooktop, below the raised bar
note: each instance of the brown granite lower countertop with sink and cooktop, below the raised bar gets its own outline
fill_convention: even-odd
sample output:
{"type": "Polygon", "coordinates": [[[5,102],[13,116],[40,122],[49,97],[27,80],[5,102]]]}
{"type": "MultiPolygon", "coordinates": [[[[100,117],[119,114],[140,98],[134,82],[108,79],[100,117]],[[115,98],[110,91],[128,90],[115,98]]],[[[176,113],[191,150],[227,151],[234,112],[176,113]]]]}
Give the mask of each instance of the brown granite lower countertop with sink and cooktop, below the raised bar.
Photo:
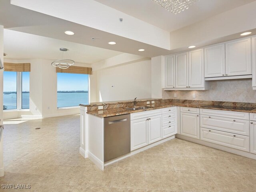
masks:
{"type": "MultiPolygon", "coordinates": [[[[234,102],[233,102],[234,104],[234,102]]],[[[228,111],[238,111],[238,112],[249,112],[249,113],[256,113],[256,108],[254,107],[246,107],[246,106],[222,106],[223,108],[218,108],[219,105],[209,105],[209,104],[192,104],[192,103],[182,103],[182,102],[162,102],[157,104],[150,104],[146,105],[151,108],[147,109],[139,109],[139,110],[128,110],[127,108],[111,108],[111,109],[104,109],[104,110],[92,110],[88,111],[88,114],[98,116],[101,118],[116,116],[116,115],[123,115],[123,114],[130,114],[160,108],[167,108],[167,107],[174,107],[174,106],[181,106],[181,107],[193,107],[193,108],[205,108],[205,109],[216,109],[216,110],[228,110],[228,111]],[[242,109],[241,109],[242,108],[242,109]],[[246,110],[246,109],[252,110],[246,110]]]]}

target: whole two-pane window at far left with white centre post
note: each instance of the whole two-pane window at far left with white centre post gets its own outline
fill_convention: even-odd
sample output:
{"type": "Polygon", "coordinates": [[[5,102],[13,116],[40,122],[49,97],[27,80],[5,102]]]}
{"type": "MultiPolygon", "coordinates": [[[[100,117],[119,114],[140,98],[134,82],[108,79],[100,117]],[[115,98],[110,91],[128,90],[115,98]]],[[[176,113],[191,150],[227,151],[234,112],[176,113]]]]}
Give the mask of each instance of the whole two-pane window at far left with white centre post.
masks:
{"type": "Polygon", "coordinates": [[[4,110],[29,109],[29,72],[4,71],[4,110]]]}

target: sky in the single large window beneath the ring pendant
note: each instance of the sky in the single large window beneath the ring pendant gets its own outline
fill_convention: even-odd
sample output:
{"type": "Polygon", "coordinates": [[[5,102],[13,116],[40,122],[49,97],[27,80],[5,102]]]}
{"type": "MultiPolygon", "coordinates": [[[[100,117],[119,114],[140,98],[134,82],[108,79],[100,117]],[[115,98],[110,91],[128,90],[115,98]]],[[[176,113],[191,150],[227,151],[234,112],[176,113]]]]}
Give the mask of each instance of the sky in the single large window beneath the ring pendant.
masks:
{"type": "Polygon", "coordinates": [[[88,75],[57,73],[58,91],[88,91],[88,75]]]}

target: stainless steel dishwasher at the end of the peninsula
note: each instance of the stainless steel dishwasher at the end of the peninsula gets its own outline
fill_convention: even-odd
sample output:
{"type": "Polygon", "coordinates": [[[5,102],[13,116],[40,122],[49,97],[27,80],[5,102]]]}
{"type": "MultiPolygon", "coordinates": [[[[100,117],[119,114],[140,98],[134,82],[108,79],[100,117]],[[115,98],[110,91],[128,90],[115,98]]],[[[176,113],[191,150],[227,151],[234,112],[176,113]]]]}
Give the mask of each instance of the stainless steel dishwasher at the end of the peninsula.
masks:
{"type": "Polygon", "coordinates": [[[131,152],[130,114],[104,118],[104,162],[131,152]]]}

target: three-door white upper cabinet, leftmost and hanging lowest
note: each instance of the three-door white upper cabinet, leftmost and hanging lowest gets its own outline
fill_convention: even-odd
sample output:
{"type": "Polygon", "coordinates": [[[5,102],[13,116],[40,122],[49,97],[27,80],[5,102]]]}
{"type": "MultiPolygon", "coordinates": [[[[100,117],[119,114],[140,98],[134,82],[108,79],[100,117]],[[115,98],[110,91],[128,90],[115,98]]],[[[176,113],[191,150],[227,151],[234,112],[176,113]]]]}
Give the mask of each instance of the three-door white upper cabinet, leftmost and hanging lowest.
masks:
{"type": "Polygon", "coordinates": [[[165,90],[205,90],[204,49],[166,57],[165,90]]]}

